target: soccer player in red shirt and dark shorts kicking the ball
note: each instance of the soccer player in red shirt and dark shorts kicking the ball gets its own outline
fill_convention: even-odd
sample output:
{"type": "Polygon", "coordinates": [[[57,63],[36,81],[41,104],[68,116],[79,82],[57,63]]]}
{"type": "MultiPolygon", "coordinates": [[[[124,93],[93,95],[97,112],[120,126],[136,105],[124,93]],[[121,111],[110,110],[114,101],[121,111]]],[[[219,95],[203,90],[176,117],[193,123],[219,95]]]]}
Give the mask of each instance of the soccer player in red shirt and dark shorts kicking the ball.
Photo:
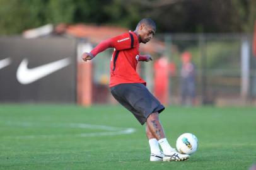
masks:
{"type": "Polygon", "coordinates": [[[158,118],[165,107],[148,91],[146,82],[136,72],[137,62],[152,60],[150,55],[139,55],[139,43],[149,42],[155,33],[154,21],[144,18],[139,21],[135,31],[104,40],[81,57],[84,61],[91,60],[103,50],[114,48],[110,62],[110,90],[113,97],[131,111],[141,125],[146,123],[150,161],[184,161],[189,155],[180,154],[170,146],[158,118]]]}

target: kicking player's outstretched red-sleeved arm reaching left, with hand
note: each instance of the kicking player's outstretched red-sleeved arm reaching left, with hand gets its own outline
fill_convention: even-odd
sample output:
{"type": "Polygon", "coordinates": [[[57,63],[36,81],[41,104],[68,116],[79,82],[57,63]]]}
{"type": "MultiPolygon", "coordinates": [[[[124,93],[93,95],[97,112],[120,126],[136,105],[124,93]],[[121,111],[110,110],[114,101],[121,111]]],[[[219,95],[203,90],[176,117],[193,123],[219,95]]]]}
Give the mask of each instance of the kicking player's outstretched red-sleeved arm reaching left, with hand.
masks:
{"type": "Polygon", "coordinates": [[[110,38],[100,42],[91,52],[85,52],[81,57],[84,61],[93,59],[97,54],[103,52],[107,48],[115,48],[115,50],[125,50],[133,48],[137,45],[134,42],[134,35],[132,33],[124,33],[117,37],[110,38]]]}

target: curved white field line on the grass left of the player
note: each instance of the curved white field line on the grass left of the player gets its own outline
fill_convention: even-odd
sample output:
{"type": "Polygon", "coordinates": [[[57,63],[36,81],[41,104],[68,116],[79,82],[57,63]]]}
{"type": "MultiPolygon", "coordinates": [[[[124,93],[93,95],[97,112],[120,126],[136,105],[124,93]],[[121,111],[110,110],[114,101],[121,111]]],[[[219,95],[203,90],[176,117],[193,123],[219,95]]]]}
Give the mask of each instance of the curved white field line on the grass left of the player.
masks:
{"type": "Polygon", "coordinates": [[[136,131],[135,128],[119,128],[110,127],[106,125],[91,125],[86,123],[67,123],[67,124],[55,124],[55,125],[39,125],[36,123],[16,123],[6,122],[11,127],[40,127],[40,128],[81,128],[81,129],[97,129],[105,132],[93,132],[93,133],[74,133],[74,134],[49,134],[49,135],[13,135],[13,136],[2,136],[3,138],[14,138],[14,139],[35,139],[41,138],[54,138],[54,137],[98,137],[98,136],[112,136],[112,135],[123,135],[131,134],[136,131]],[[106,132],[107,131],[107,132],[106,132]]]}

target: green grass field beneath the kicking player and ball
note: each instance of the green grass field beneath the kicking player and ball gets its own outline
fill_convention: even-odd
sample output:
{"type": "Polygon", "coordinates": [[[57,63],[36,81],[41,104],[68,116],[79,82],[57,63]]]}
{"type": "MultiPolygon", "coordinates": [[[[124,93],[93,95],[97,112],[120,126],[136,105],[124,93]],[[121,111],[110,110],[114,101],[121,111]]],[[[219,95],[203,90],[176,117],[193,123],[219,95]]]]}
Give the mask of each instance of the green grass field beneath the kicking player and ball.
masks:
{"type": "Polygon", "coordinates": [[[181,133],[197,136],[188,161],[149,162],[144,127],[121,106],[0,105],[0,169],[248,169],[256,162],[256,108],[174,106],[160,119],[173,146],[181,133]]]}

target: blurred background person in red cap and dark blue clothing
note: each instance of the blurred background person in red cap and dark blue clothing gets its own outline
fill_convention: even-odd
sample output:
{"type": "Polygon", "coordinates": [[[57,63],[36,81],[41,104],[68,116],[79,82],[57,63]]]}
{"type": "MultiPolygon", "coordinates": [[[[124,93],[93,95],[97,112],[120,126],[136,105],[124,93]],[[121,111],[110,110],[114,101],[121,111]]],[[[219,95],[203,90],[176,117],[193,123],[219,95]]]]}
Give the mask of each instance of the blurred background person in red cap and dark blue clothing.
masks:
{"type": "Polygon", "coordinates": [[[195,105],[195,66],[192,64],[191,59],[190,52],[183,52],[180,71],[182,105],[195,105]]]}

